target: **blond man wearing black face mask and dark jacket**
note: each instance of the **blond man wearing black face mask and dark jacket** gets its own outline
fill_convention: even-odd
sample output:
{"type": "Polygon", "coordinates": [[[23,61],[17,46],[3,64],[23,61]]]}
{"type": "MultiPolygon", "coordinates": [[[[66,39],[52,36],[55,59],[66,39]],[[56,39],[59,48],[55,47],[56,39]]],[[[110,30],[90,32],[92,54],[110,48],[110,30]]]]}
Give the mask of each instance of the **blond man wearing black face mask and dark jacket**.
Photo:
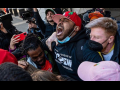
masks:
{"type": "Polygon", "coordinates": [[[88,23],[90,40],[84,45],[84,61],[115,61],[120,64],[120,37],[116,21],[101,17],[88,23]]]}

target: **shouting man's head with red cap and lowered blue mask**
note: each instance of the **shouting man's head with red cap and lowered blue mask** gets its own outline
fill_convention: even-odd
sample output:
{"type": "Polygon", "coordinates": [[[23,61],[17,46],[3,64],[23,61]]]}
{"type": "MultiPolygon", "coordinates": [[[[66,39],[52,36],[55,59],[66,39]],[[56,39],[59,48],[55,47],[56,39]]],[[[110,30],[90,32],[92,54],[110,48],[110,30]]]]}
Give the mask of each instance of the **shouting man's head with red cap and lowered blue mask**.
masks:
{"type": "Polygon", "coordinates": [[[66,43],[70,38],[81,29],[82,20],[75,12],[67,11],[63,15],[56,14],[53,21],[57,23],[56,35],[59,43],[66,43]],[[63,22],[69,21],[71,25],[63,25],[63,22]],[[65,28],[64,28],[65,26],[65,28]]]}

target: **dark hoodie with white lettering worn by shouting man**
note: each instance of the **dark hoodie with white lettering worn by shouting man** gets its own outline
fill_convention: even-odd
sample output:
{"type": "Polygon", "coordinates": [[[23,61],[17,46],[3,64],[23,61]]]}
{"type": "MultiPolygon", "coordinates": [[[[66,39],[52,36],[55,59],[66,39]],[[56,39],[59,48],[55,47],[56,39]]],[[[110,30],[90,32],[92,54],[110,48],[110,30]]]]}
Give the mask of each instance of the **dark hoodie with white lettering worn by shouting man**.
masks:
{"type": "Polygon", "coordinates": [[[83,62],[83,46],[87,39],[86,31],[81,30],[69,42],[53,48],[54,59],[61,75],[81,80],[77,75],[77,69],[83,62]]]}

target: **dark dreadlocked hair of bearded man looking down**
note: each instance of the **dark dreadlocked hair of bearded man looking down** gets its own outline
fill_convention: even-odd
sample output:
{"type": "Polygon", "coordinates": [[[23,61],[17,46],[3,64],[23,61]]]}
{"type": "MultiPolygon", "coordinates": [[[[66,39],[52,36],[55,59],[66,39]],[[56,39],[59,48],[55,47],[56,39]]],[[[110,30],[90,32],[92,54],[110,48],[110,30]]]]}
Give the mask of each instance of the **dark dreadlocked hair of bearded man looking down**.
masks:
{"type": "Polygon", "coordinates": [[[27,54],[29,50],[36,50],[39,46],[43,49],[42,42],[38,39],[37,35],[30,33],[23,41],[23,53],[27,54]]]}

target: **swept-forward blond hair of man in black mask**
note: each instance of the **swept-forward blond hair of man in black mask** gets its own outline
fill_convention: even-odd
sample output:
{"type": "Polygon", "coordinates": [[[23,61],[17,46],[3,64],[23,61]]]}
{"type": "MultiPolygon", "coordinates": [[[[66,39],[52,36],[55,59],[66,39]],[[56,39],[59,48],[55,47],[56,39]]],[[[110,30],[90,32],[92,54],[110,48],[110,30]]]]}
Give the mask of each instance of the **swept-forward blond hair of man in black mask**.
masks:
{"type": "Polygon", "coordinates": [[[95,19],[91,22],[89,22],[86,26],[86,28],[96,28],[100,27],[105,29],[105,32],[107,34],[115,36],[117,33],[118,25],[115,20],[108,18],[108,17],[100,17],[98,19],[95,19]]]}

